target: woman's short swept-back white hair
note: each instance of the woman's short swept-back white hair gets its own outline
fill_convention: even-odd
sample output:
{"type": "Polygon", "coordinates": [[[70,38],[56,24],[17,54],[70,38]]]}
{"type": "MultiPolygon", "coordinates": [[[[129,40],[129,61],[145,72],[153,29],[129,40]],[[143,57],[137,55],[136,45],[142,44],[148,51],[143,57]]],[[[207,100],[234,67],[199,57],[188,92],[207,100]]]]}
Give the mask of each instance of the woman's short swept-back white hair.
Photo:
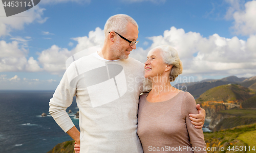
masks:
{"type": "Polygon", "coordinates": [[[178,77],[179,74],[182,73],[183,70],[182,62],[179,58],[177,50],[169,45],[160,45],[151,49],[148,54],[155,50],[161,51],[161,56],[165,64],[173,65],[172,70],[170,70],[169,80],[170,82],[175,81],[175,79],[178,77]]]}

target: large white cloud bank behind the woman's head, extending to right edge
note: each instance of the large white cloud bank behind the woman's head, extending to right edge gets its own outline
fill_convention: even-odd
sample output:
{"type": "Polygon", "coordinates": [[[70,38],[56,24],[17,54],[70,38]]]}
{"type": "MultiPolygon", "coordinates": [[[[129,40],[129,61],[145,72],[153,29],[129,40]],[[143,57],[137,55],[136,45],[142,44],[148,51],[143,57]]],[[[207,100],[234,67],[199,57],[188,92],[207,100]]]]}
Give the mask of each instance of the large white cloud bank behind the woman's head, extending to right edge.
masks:
{"type": "Polygon", "coordinates": [[[183,62],[183,74],[256,75],[255,35],[251,35],[247,41],[237,37],[224,38],[218,34],[205,38],[200,33],[185,33],[183,29],[172,27],[164,31],[163,35],[148,39],[153,41],[152,45],[146,50],[136,49],[131,57],[144,63],[142,59],[149,49],[167,44],[178,51],[183,62]]]}

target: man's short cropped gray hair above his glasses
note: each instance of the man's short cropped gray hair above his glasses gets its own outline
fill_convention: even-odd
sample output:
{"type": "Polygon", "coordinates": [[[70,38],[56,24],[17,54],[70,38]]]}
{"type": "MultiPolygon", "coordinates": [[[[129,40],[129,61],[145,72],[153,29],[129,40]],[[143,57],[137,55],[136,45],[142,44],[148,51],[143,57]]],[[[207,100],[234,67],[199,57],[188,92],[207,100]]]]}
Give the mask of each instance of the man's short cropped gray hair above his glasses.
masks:
{"type": "Polygon", "coordinates": [[[105,37],[108,36],[109,32],[111,31],[120,33],[120,35],[125,34],[126,27],[129,22],[131,22],[132,24],[136,25],[137,28],[139,28],[137,22],[129,15],[117,14],[117,15],[111,16],[105,23],[105,27],[104,27],[105,37]]]}

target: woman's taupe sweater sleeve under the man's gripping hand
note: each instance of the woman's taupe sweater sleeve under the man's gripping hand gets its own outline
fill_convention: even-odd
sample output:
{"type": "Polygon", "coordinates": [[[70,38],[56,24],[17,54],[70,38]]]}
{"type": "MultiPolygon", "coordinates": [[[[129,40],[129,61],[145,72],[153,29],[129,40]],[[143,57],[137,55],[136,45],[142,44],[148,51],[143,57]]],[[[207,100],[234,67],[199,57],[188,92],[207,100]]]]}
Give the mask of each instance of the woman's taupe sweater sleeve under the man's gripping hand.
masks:
{"type": "Polygon", "coordinates": [[[196,129],[195,125],[191,123],[188,114],[198,114],[198,110],[196,108],[196,100],[188,92],[185,92],[185,96],[183,99],[184,103],[184,115],[186,116],[186,126],[190,139],[190,144],[193,148],[195,148],[194,152],[206,152],[206,144],[204,141],[204,133],[202,129],[196,129]]]}

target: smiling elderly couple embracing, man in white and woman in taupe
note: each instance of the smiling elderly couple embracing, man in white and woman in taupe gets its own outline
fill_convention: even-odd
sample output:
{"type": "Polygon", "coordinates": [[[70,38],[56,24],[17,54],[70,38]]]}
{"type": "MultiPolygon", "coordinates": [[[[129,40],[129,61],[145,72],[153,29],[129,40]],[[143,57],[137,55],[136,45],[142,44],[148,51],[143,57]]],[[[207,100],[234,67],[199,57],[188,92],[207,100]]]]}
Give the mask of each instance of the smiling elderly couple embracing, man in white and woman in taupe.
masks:
{"type": "Polygon", "coordinates": [[[50,114],[75,140],[75,152],[206,152],[205,111],[190,93],[170,85],[182,73],[177,51],[155,47],[142,64],[129,58],[138,33],[130,16],[111,16],[102,49],[68,67],[50,114]],[[80,132],[66,112],[73,96],[80,132]]]}

